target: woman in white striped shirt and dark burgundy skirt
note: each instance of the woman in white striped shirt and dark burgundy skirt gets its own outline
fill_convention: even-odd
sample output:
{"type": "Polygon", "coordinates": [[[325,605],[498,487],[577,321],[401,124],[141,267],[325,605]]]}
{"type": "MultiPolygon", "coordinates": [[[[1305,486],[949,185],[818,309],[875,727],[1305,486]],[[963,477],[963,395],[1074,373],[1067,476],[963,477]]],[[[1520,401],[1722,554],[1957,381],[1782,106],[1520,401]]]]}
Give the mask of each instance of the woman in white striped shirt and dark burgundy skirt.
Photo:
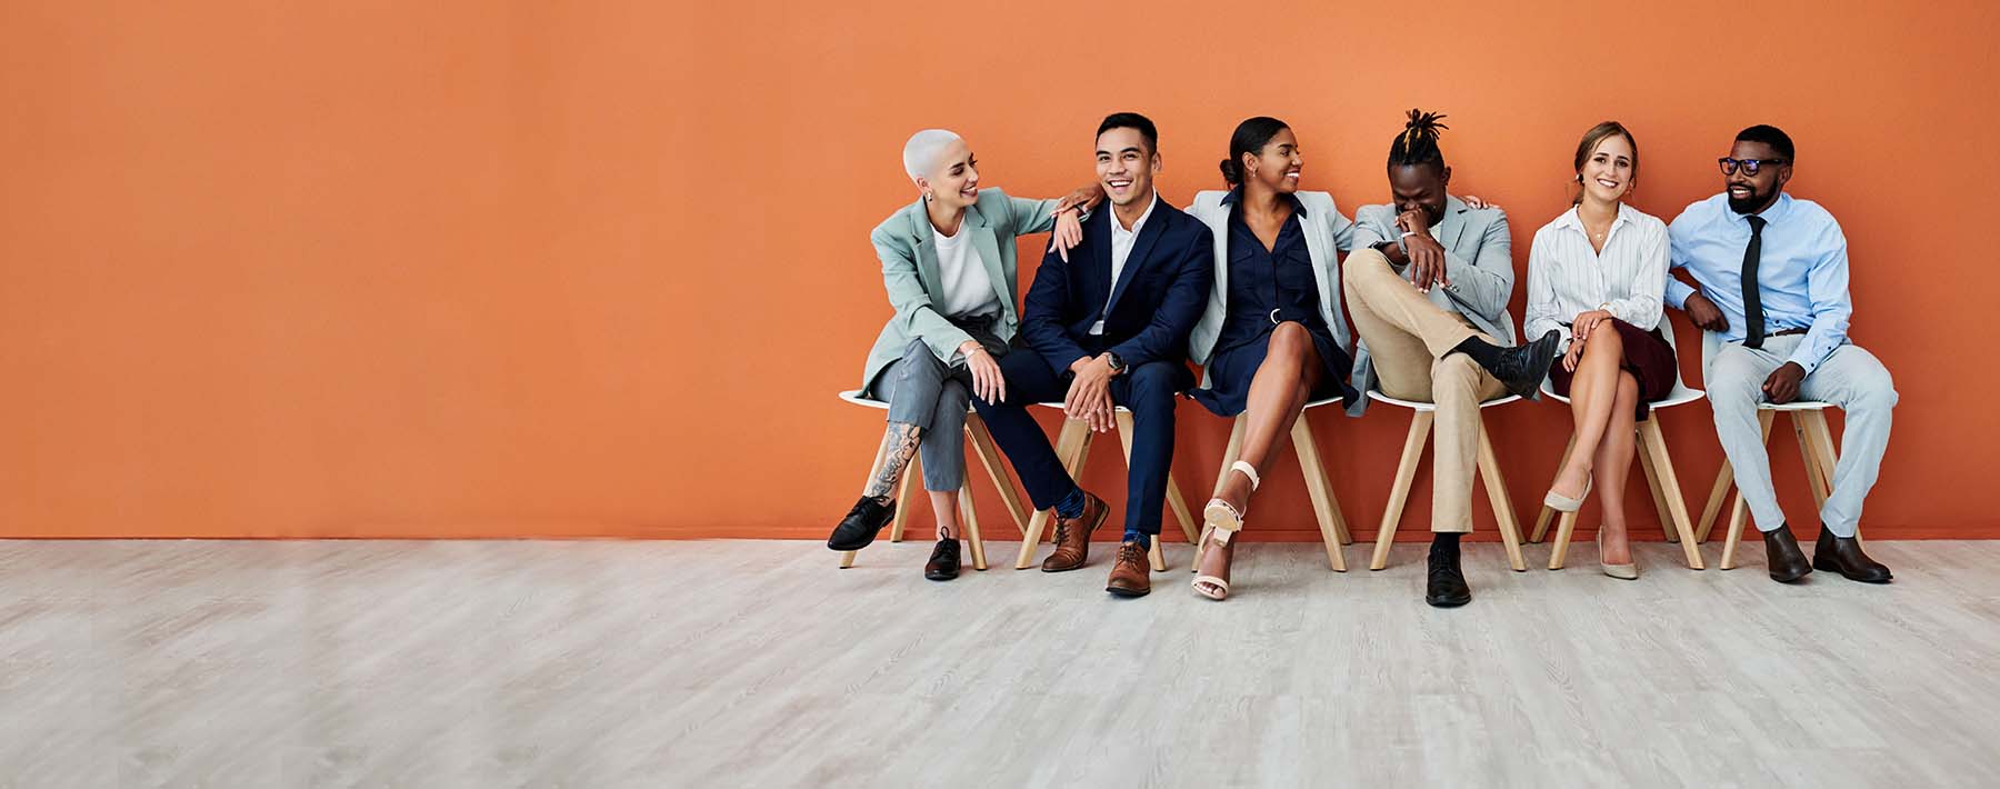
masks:
{"type": "Polygon", "coordinates": [[[1606,120],[1576,146],[1576,204],[1534,234],[1528,252],[1526,334],[1562,332],[1568,348],[1548,384],[1570,399],[1576,447],[1544,503],[1562,513],[1592,489],[1604,505],[1600,563],[1614,579],[1636,579],[1626,541],[1624,483],[1632,469],[1634,423],[1678,380],[1666,292],[1666,222],[1624,204],[1638,180],[1638,142],[1606,120]],[[1594,475],[1604,485],[1592,485],[1594,475]]]}

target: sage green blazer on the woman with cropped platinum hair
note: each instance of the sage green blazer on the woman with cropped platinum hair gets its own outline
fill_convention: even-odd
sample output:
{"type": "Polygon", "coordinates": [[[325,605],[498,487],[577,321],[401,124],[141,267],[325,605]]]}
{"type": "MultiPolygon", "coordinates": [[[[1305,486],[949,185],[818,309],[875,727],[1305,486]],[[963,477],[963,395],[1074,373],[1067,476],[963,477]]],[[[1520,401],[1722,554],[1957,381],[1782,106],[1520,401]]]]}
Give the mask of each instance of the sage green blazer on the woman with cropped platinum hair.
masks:
{"type": "MultiPolygon", "coordinates": [[[[978,202],[966,208],[964,226],[958,232],[972,234],[972,248],[986,264],[986,278],[1000,298],[1000,322],[994,334],[1002,342],[1012,342],[1020,328],[1020,286],[1016,282],[1014,236],[1048,232],[1056,226],[1050,216],[1060,200],[1026,200],[1006,196],[998,188],[982,188],[978,202]]],[[[868,364],[862,368],[862,392],[872,392],[876,376],[890,362],[902,358],[910,340],[924,340],[940,360],[950,362],[958,346],[972,338],[950,320],[944,320],[934,298],[944,296],[938,278],[938,250],[934,248],[930,214],[924,200],[916,200],[876,224],[868,240],[882,258],[882,286],[888,288],[888,304],[896,314],[882,326],[876,344],[868,350],[868,364]]]]}

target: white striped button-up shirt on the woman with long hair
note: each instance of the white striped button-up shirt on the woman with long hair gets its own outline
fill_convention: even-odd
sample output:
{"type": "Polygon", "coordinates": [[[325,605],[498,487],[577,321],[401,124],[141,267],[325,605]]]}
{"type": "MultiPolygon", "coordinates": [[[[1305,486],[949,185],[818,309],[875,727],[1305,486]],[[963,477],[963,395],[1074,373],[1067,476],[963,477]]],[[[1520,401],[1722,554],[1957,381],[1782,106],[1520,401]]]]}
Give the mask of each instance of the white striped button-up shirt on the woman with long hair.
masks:
{"type": "Polygon", "coordinates": [[[1554,328],[1570,340],[1570,320],[1604,308],[1614,318],[1642,330],[1660,324],[1660,296],[1666,292],[1666,222],[1618,204],[1618,218],[1604,236],[1604,252],[1590,246],[1590,234],[1576,208],[1534,232],[1528,248],[1528,338],[1554,328]]]}

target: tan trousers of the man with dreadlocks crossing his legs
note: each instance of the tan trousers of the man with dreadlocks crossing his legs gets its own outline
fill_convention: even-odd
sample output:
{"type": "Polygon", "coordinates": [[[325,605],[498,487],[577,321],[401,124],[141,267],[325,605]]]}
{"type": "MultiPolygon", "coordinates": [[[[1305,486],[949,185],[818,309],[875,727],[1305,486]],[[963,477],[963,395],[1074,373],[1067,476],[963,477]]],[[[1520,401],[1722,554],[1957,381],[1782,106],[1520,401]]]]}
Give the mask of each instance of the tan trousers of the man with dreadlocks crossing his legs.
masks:
{"type": "Polygon", "coordinates": [[[1342,262],[1340,280],[1348,292],[1348,314],[1368,356],[1382,394],[1398,401],[1436,403],[1432,439],[1430,531],[1472,531],[1472,475],[1480,443],[1480,403],[1506,394],[1486,368],[1462,352],[1458,342],[1486,332],[1464,316],[1432,304],[1422,290],[1390,268],[1372,248],[1356,250],[1342,262]]]}

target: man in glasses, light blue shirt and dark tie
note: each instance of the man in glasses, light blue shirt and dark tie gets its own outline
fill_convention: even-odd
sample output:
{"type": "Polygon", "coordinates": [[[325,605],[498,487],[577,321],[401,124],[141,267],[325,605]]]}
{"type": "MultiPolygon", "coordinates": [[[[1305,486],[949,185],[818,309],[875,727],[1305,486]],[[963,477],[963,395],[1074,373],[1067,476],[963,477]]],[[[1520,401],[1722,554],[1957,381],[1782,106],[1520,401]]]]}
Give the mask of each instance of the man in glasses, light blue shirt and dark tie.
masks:
{"type": "Polygon", "coordinates": [[[1666,302],[1708,332],[1702,362],[1716,437],[1764,533],[1770,577],[1792,583],[1822,569],[1888,583],[1888,567],[1862,553],[1856,529],[1888,449],[1896,384],[1874,354],[1848,340],[1848,240],[1826,208],[1784,194],[1792,162],[1792,138],[1782,130],[1750,126],[1736,134],[1730,156],[1720,160],[1724,192],[1690,204],[1668,228],[1674,268],[1700,290],[1670,276],[1666,302]],[[1832,403],[1848,415],[1810,563],[1778,509],[1756,419],[1758,403],[1796,399],[1832,403]]]}

